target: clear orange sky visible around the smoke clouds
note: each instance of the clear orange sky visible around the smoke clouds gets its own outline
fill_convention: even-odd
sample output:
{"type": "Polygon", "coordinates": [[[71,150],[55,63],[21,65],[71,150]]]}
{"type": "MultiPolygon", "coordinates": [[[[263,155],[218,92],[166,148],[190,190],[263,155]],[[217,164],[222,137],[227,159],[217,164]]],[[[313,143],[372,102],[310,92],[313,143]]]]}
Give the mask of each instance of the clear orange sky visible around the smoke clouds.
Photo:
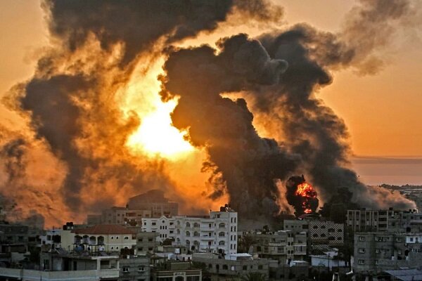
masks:
{"type": "MultiPolygon", "coordinates": [[[[279,0],[286,21],[308,22],[321,30],[336,31],[350,0],[279,0]],[[316,5],[317,4],[317,5],[316,5]]],[[[0,93],[30,77],[41,46],[48,44],[38,1],[0,1],[0,93]]],[[[241,28],[239,32],[243,31],[241,28]]],[[[404,32],[406,33],[406,32],[404,32]]],[[[345,119],[356,155],[422,155],[422,50],[419,39],[404,34],[392,42],[388,65],[374,76],[352,70],[333,73],[333,84],[319,97],[345,119]]],[[[0,106],[2,123],[15,117],[0,106]]],[[[12,121],[9,121],[12,120],[12,121]]]]}

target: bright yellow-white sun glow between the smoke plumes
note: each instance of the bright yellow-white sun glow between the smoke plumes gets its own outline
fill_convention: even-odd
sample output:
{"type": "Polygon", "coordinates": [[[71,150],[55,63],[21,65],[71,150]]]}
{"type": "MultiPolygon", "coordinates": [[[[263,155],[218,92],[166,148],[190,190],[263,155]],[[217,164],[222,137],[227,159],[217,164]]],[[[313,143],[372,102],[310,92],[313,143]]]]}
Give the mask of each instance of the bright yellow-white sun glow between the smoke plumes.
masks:
{"type": "Polygon", "coordinates": [[[126,145],[133,153],[149,157],[179,159],[195,148],[186,141],[186,131],[172,126],[170,114],[177,105],[177,98],[162,102],[159,96],[162,59],[146,65],[137,65],[131,79],[120,90],[119,97],[125,116],[134,114],[141,124],[127,139],[126,145]],[[142,74],[140,74],[142,73],[142,74]]]}

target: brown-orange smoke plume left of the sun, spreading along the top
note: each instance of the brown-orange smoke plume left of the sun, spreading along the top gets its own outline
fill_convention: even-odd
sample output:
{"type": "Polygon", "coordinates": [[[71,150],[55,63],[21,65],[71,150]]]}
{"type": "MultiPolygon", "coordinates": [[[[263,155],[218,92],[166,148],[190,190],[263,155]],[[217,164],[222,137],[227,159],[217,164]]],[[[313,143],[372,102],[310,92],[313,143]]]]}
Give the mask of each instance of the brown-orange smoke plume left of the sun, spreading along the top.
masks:
{"type": "MultiPolygon", "coordinates": [[[[169,44],[215,30],[229,13],[253,14],[256,20],[279,20],[282,14],[281,8],[271,9],[264,0],[46,0],[42,6],[52,46],[39,59],[34,77],[15,86],[14,106],[30,119],[34,132],[23,142],[41,143],[39,147],[46,152],[51,150],[58,161],[55,168],[63,169],[64,179],[58,177],[63,180],[59,186],[56,181],[47,183],[49,188],[13,183],[13,190],[16,201],[27,205],[29,197],[19,195],[28,189],[39,188],[43,193],[41,190],[55,188],[54,194],[39,194],[39,200],[34,200],[44,203],[44,211],[43,207],[36,209],[48,216],[45,209],[53,210],[53,200],[64,205],[62,214],[69,210],[84,214],[124,204],[130,195],[151,188],[162,188],[174,199],[183,200],[184,195],[174,193],[175,183],[162,160],[129,153],[127,139],[141,120],[133,111],[120,107],[121,89],[127,86],[139,61],[155,60],[169,44]]],[[[283,64],[271,65],[267,71],[279,72],[283,64]]],[[[262,79],[270,75],[261,74],[262,79]]],[[[25,158],[29,151],[18,156],[25,158]]],[[[24,178],[29,176],[27,166],[15,169],[20,168],[16,167],[20,162],[10,162],[15,156],[5,152],[2,157],[14,167],[8,171],[10,176],[17,172],[25,173],[24,178]]],[[[46,173],[51,170],[46,169],[46,173]]]]}

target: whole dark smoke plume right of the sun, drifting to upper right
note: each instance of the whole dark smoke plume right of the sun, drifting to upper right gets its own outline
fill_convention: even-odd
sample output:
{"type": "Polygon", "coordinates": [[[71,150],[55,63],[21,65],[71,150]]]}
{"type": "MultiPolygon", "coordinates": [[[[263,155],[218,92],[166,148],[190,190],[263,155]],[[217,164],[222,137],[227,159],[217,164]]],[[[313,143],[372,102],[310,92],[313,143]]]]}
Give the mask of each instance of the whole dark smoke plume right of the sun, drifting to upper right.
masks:
{"type": "Polygon", "coordinates": [[[373,72],[376,48],[385,44],[373,37],[380,32],[390,36],[409,11],[409,1],[393,1],[392,8],[382,1],[363,1],[340,34],[296,25],[258,40],[244,34],[222,39],[218,54],[207,46],[170,51],[162,97],[181,97],[172,115],[174,126],[187,129],[193,145],[207,148],[210,163],[205,169],[219,178],[212,196],[221,195],[223,186],[243,214],[278,211],[274,202],[279,192],[271,181],[299,170],[310,176],[325,200],[345,186],[352,201],[365,207],[414,207],[400,195],[367,187],[347,168],[347,128],[314,96],[331,83],[331,69],[373,72]],[[359,29],[365,25],[369,30],[359,29]],[[378,25],[388,28],[378,31],[378,25]],[[357,30],[362,33],[353,37],[357,30]],[[366,39],[368,43],[359,44],[366,39]],[[252,107],[243,99],[223,98],[228,92],[242,92],[252,107]],[[269,124],[268,131],[283,146],[257,136],[250,110],[269,124]]]}

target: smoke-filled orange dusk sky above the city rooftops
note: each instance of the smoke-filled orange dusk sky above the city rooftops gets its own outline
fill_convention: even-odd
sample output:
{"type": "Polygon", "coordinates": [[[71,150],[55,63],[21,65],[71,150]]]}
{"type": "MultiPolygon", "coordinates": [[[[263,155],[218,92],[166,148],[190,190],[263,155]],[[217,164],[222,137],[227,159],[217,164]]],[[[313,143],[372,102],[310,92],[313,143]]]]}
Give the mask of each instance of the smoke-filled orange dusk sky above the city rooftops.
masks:
{"type": "Polygon", "coordinates": [[[422,185],[418,1],[117,3],[0,1],[16,216],[81,219],[151,188],[264,216],[248,209],[291,211],[300,175],[320,206],[341,188],[415,206],[367,185],[422,185]]]}

